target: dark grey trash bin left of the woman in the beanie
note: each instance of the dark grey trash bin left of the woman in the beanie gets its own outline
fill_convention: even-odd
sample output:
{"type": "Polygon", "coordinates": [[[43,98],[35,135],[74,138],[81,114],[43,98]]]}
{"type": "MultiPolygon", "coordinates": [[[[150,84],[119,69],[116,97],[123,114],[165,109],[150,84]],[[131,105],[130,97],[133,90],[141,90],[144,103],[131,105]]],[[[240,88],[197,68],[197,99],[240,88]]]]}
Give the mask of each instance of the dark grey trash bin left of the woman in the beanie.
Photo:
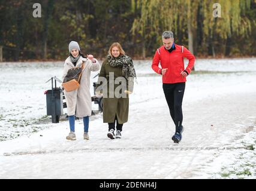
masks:
{"type": "Polygon", "coordinates": [[[44,94],[46,94],[47,115],[52,115],[52,122],[58,123],[60,116],[63,114],[63,97],[62,88],[56,87],[56,79],[55,88],[53,88],[52,78],[52,90],[47,90],[44,94]]]}

